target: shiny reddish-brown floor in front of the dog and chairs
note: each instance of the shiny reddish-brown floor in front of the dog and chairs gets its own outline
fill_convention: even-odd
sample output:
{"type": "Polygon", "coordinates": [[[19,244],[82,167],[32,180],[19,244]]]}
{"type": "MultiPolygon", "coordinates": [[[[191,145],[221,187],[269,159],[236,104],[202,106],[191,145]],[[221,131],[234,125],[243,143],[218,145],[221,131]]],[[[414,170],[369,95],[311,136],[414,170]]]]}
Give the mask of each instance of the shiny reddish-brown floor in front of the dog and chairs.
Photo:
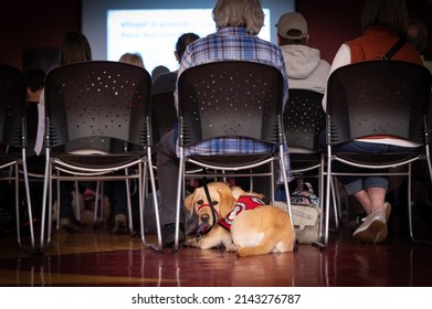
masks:
{"type": "Polygon", "coordinates": [[[365,245],[344,225],[326,251],[298,245],[296,253],[245,258],[217,248],[157,254],[139,237],[92,226],[76,235],[59,231],[44,255],[34,256],[18,247],[14,235],[0,235],[0,286],[432,286],[432,246],[414,244],[400,230],[390,230],[383,244],[365,245]]]}

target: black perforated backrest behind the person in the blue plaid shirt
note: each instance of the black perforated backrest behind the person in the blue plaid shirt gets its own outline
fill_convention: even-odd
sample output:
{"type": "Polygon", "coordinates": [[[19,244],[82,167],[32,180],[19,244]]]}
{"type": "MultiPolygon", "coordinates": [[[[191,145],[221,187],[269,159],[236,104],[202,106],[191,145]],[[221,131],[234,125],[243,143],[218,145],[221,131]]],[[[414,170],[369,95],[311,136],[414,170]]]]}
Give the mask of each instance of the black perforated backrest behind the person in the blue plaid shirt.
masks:
{"type": "Polygon", "coordinates": [[[207,63],[181,73],[178,82],[180,145],[218,137],[281,142],[283,78],[265,64],[207,63]]]}

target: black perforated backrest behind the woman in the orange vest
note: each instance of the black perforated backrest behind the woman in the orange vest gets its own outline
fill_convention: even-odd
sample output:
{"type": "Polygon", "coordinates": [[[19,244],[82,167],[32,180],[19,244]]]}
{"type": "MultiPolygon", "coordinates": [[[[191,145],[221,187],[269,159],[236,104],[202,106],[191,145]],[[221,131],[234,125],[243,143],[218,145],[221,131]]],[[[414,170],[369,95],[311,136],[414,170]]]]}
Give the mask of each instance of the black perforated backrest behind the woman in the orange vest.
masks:
{"type": "Polygon", "coordinates": [[[431,73],[421,65],[370,61],[339,67],[327,84],[327,142],[380,135],[424,143],[430,95],[431,73]]]}

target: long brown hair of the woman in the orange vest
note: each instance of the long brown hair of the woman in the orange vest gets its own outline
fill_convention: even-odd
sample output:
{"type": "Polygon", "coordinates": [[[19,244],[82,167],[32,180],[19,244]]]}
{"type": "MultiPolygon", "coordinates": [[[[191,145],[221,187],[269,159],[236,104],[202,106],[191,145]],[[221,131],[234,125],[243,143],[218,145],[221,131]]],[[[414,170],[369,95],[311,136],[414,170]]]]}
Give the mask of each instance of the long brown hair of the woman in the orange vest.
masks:
{"type": "Polygon", "coordinates": [[[362,26],[381,26],[400,38],[407,35],[408,11],[405,0],[365,0],[362,26]]]}

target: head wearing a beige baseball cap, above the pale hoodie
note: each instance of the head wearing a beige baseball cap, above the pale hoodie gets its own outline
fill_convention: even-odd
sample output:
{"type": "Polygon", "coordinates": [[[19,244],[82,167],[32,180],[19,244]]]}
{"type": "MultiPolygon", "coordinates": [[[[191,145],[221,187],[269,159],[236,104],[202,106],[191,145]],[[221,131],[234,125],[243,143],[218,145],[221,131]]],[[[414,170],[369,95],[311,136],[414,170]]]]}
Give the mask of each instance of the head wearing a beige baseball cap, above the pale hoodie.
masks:
{"type": "Polygon", "coordinates": [[[276,26],[278,45],[307,44],[309,38],[307,33],[307,22],[301,13],[289,12],[283,14],[277,21],[276,26]]]}

